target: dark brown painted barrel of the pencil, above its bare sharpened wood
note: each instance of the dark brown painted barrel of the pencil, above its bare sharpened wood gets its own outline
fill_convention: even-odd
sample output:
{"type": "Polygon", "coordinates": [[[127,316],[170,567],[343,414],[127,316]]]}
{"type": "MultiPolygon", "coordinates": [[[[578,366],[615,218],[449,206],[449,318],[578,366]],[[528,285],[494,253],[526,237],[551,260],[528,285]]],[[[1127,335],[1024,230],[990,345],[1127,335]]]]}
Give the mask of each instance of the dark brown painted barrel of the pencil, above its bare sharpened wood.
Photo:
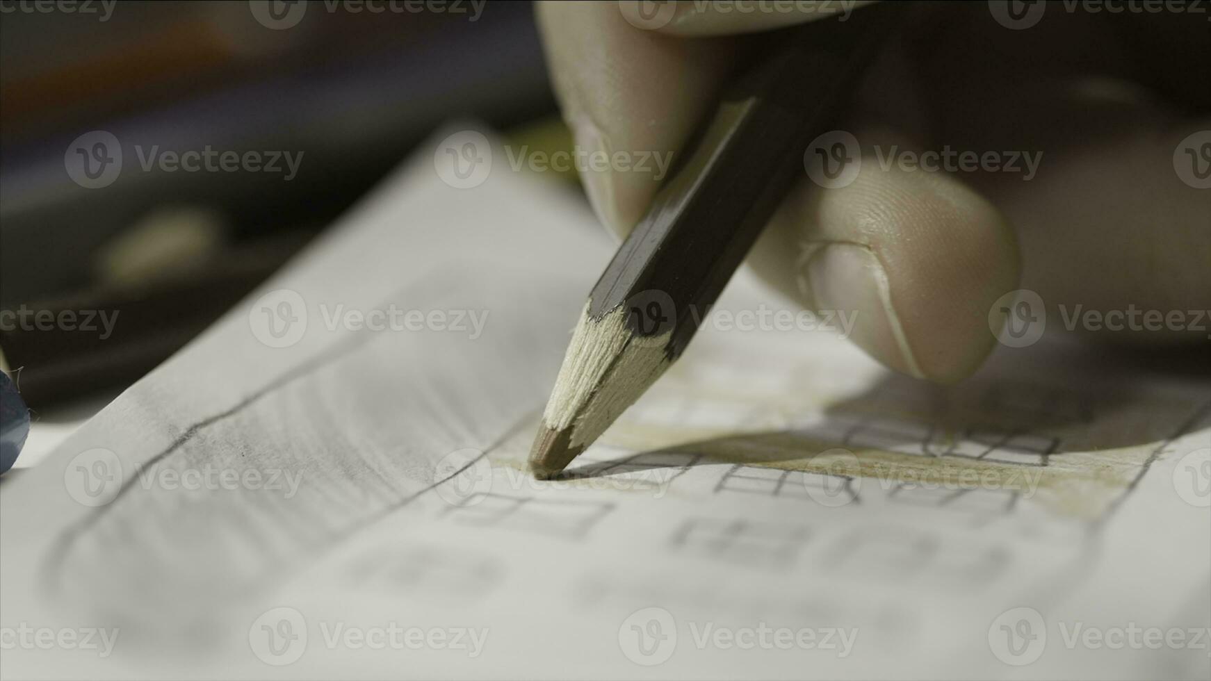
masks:
{"type": "Polygon", "coordinates": [[[902,4],[780,31],[725,92],[696,144],[590,294],[589,314],[626,306],[635,336],[671,330],[676,359],[803,168],[803,151],[896,24],[902,4]]]}

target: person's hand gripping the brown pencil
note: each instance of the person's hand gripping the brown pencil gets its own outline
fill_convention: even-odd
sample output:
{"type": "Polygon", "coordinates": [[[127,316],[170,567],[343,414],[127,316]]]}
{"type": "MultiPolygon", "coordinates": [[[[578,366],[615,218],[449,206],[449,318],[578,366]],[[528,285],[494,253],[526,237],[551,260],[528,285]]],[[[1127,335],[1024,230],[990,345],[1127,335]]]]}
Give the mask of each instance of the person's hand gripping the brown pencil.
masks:
{"type": "MultiPolygon", "coordinates": [[[[645,24],[626,4],[556,1],[538,19],[578,150],[638,158],[681,151],[759,31],[842,5],[679,2],[645,24]]],[[[997,342],[989,311],[1017,288],[1045,301],[1049,330],[1207,344],[1211,319],[1194,313],[1211,307],[1206,17],[1049,4],[1012,30],[987,4],[942,2],[905,22],[842,126],[860,169],[828,187],[804,172],[750,256],[758,275],[808,308],[856,311],[866,352],[942,382],[978,368],[997,342]],[[1160,328],[1143,325],[1150,311],[1160,328]]],[[[644,167],[582,174],[619,236],[660,186],[644,167]]]]}

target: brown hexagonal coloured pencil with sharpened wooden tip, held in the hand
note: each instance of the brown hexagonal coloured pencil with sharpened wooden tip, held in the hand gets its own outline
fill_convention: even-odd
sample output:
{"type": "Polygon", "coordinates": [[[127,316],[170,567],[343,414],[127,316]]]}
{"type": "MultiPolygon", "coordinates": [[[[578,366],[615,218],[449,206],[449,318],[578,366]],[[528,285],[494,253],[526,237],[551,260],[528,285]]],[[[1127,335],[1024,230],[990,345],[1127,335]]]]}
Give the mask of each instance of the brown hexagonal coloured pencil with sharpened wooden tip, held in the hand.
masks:
{"type": "Polygon", "coordinates": [[[894,2],[769,34],[589,294],[529,466],[550,478],[682,354],[894,28],[894,2]]]}

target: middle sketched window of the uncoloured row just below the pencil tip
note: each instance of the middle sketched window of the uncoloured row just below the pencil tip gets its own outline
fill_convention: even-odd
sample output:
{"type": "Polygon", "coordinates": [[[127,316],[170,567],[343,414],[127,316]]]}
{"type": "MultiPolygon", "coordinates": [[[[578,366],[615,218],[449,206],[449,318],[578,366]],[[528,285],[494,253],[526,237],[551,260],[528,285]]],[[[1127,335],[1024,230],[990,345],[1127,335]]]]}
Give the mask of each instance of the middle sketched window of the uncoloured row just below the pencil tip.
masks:
{"type": "Polygon", "coordinates": [[[807,544],[808,527],[754,520],[690,518],[672,536],[675,552],[744,565],[786,567],[807,544]]]}

